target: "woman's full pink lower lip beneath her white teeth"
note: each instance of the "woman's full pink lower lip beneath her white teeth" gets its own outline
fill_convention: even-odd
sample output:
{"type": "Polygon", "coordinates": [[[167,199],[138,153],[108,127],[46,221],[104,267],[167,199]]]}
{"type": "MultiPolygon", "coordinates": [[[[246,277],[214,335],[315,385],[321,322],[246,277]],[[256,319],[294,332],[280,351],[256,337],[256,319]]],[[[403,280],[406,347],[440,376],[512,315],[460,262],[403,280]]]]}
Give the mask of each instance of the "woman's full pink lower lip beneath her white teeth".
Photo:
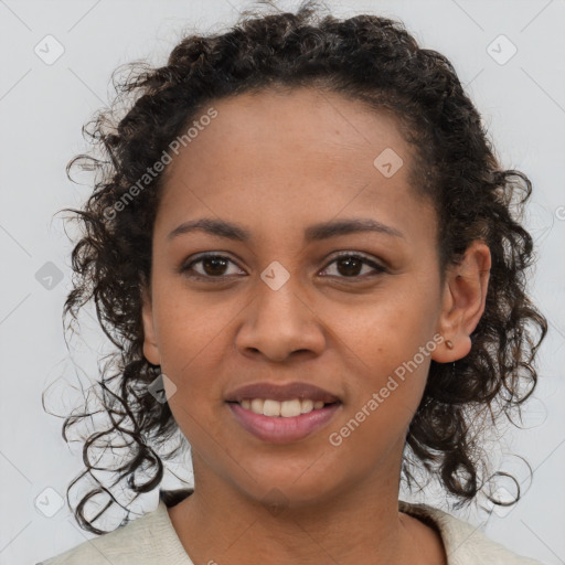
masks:
{"type": "Polygon", "coordinates": [[[328,404],[323,408],[289,418],[255,414],[237,403],[228,403],[235,419],[255,437],[274,444],[287,444],[302,439],[324,426],[341,406],[328,404]]]}

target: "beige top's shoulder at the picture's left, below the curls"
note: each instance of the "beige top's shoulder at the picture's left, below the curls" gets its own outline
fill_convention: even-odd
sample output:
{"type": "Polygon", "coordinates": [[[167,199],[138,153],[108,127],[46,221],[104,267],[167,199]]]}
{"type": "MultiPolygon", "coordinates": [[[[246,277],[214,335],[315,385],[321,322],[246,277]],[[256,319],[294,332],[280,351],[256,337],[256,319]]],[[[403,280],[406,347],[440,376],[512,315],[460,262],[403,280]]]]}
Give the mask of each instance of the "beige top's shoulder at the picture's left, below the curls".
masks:
{"type": "Polygon", "coordinates": [[[88,540],[36,565],[193,565],[160,501],[143,514],[113,532],[88,540]]]}

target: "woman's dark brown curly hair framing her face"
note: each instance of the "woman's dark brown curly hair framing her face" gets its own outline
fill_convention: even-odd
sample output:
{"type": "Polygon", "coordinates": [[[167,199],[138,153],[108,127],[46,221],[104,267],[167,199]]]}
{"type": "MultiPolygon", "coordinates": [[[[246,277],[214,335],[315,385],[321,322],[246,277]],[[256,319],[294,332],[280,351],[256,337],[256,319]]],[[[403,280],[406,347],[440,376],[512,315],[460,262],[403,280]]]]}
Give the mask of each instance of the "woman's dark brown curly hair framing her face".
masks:
{"type": "MultiPolygon", "coordinates": [[[[489,479],[480,438],[501,415],[514,423],[512,416],[532,394],[537,382],[534,356],[547,322],[526,295],[533,241],[520,221],[531,182],[523,172],[499,164],[451,63],[419,47],[398,21],[369,14],[340,20],[307,1],[296,13],[248,10],[224,33],[182,39],[164,66],[136,61],[117,68],[113,83],[117,96],[111,108],[99,110],[83,128],[100,153],[76,156],[67,166],[71,180],[71,171],[79,166],[95,171],[96,179],[84,207],[66,210],[79,225],[81,237],[72,253],[65,330],[94,300],[114,348],[96,383],[102,408],[68,416],[63,425],[68,441],[66,429],[78,420],[99,413],[107,420],[84,438],[86,470],[67,489],[68,498],[83,477],[96,481],[74,510],[81,526],[105,533],[92,522],[113,503],[127,511],[120,525],[129,520],[130,511],[93,473],[109,470],[95,467],[89,458],[100,441],[113,450],[128,448],[122,465],[113,469],[118,477],[111,487],[127,478],[136,498],[161,483],[162,461],[178,452],[157,452],[178,426],[169,404],[156,402],[148,391],[160,367],[142,351],[141,289],[150,279],[152,227],[164,173],[154,174],[135,198],[131,188],[206,105],[268,88],[317,87],[392,113],[416,151],[411,178],[415,193],[429,199],[437,212],[443,277],[473,241],[490,248],[486,309],[471,334],[471,350],[454,364],[431,361],[402,468],[408,486],[423,470],[440,480],[456,505],[473,500],[489,479]],[[126,74],[118,78],[121,71],[126,74]],[[122,103],[126,111],[117,117],[122,103]],[[127,205],[118,206],[124,199],[127,205]],[[126,444],[114,446],[113,435],[126,444]],[[136,482],[140,472],[150,479],[136,482]],[[110,500],[88,520],[86,503],[104,493],[110,500]]],[[[170,491],[164,494],[170,497],[170,491]]]]}

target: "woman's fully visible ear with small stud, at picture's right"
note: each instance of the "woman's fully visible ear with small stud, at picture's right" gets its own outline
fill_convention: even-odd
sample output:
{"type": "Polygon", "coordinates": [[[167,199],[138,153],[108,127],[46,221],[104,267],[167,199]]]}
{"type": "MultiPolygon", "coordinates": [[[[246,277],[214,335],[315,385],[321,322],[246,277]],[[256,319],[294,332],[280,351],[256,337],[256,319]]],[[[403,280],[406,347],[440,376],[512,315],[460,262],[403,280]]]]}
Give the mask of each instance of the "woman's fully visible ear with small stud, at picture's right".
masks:
{"type": "Polygon", "coordinates": [[[436,329],[445,342],[431,354],[434,361],[450,363],[471,350],[470,334],[484,311],[490,267],[489,247],[476,241],[468,247],[461,264],[448,268],[436,329]],[[447,340],[451,341],[451,349],[447,348],[447,340]]]}

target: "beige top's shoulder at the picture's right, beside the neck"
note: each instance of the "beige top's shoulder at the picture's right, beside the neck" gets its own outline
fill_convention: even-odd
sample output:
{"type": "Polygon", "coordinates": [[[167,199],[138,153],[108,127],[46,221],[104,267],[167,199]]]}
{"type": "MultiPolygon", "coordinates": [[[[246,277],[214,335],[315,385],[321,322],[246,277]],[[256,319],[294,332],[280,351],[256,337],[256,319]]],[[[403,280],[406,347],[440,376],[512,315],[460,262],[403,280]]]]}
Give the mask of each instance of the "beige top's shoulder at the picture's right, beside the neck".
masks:
{"type": "Polygon", "coordinates": [[[448,565],[542,565],[490,540],[478,526],[427,504],[398,501],[401,512],[435,525],[441,535],[448,565]]]}

